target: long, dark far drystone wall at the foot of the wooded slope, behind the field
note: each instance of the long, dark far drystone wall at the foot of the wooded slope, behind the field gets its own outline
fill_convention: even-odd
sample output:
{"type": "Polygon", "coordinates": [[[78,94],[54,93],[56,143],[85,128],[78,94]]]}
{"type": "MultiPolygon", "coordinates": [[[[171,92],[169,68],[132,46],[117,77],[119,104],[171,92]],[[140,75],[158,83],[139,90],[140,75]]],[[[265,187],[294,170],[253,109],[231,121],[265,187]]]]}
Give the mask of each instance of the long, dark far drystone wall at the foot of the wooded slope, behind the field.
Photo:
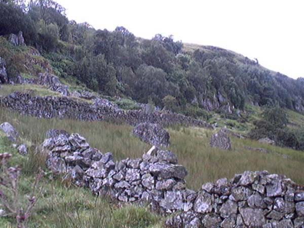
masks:
{"type": "Polygon", "coordinates": [[[176,113],[155,111],[145,113],[142,110],[122,110],[106,105],[92,105],[76,101],[69,97],[34,97],[27,93],[14,92],[6,97],[0,97],[0,105],[22,115],[37,118],[69,118],[80,121],[111,120],[135,126],[142,122],[169,126],[174,124],[212,128],[204,121],[176,113]]]}

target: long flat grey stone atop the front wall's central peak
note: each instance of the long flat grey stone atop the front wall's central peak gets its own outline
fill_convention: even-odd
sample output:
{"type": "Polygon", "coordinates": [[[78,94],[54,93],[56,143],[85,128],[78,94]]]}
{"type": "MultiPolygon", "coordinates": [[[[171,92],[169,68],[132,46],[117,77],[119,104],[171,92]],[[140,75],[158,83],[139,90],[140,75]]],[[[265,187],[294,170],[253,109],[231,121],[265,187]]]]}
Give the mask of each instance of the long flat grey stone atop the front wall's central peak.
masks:
{"type": "Polygon", "coordinates": [[[184,177],[187,175],[187,170],[185,167],[161,162],[151,164],[149,167],[149,172],[164,179],[169,179],[172,177],[184,179],[184,177]]]}

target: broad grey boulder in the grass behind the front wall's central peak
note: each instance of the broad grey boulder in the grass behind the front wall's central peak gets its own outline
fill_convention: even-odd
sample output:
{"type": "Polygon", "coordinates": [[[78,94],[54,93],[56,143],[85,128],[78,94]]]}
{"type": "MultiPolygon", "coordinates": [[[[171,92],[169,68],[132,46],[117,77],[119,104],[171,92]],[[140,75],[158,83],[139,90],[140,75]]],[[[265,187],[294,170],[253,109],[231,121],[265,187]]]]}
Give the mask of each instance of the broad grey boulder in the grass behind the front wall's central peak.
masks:
{"type": "Polygon", "coordinates": [[[169,146],[170,135],[159,124],[141,123],[133,129],[133,134],[143,142],[156,146],[169,146]]]}

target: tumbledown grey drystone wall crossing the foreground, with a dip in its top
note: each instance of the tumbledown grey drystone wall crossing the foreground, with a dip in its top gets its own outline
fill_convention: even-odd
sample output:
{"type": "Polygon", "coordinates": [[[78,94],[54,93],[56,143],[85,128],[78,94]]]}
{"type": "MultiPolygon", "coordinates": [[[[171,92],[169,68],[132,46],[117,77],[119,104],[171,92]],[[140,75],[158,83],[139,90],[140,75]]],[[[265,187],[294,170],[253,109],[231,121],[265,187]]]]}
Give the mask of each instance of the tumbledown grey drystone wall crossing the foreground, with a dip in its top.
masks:
{"type": "Polygon", "coordinates": [[[169,150],[155,149],[139,159],[115,162],[111,153],[90,147],[79,134],[59,134],[42,144],[47,166],[79,186],[125,203],[149,203],[174,216],[167,227],[304,227],[304,188],[283,175],[245,171],[205,183],[196,192],[185,186],[185,167],[169,150]]]}

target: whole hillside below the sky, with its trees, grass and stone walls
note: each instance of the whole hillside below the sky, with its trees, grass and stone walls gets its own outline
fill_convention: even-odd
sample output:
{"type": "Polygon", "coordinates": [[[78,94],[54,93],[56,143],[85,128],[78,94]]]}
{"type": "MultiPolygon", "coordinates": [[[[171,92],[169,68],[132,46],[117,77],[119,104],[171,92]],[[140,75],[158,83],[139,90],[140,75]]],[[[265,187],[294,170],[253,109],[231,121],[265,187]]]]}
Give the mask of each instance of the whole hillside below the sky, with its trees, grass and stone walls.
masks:
{"type": "Polygon", "coordinates": [[[0,227],[303,228],[304,79],[0,0],[0,227]]]}

